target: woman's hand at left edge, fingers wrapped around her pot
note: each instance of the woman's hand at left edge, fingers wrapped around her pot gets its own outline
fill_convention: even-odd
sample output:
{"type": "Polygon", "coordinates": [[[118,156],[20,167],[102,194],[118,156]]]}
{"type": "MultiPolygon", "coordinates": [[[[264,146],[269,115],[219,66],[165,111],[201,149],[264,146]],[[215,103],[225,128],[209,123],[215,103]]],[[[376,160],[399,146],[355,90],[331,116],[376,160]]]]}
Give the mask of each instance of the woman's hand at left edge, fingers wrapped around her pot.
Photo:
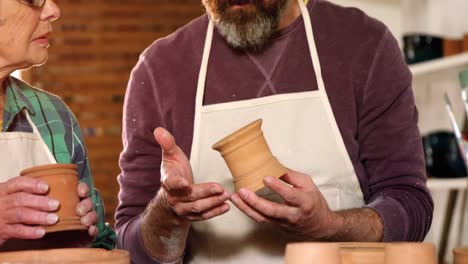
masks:
{"type": "Polygon", "coordinates": [[[0,246],[12,238],[39,239],[44,228],[53,225],[57,200],[46,197],[49,186],[43,181],[19,176],[0,183],[0,246]]]}

